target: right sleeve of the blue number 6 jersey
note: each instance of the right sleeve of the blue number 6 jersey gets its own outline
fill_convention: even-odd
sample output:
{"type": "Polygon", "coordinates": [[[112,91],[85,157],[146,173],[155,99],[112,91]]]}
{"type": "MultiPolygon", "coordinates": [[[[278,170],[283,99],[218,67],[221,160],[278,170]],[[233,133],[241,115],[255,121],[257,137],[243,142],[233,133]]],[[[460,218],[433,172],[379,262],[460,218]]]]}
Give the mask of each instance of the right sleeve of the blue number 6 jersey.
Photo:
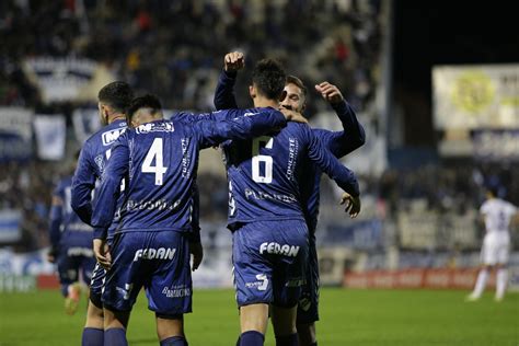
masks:
{"type": "Polygon", "coordinates": [[[342,189],[354,197],[359,196],[359,185],[354,172],[341,164],[308,126],[302,128],[307,134],[310,160],[334,180],[342,189]]]}

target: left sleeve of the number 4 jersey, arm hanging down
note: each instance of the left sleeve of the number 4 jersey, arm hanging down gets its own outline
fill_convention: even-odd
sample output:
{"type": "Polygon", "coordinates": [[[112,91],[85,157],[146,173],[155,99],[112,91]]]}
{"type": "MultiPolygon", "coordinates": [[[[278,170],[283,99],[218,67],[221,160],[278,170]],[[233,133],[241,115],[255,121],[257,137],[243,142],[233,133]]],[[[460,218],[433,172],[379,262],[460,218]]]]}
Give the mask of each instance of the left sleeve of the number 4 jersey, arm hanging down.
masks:
{"type": "Polygon", "coordinates": [[[108,227],[114,219],[120,181],[128,173],[129,148],[127,134],[123,134],[112,147],[112,154],[101,178],[97,203],[92,215],[94,239],[106,238],[108,227]]]}

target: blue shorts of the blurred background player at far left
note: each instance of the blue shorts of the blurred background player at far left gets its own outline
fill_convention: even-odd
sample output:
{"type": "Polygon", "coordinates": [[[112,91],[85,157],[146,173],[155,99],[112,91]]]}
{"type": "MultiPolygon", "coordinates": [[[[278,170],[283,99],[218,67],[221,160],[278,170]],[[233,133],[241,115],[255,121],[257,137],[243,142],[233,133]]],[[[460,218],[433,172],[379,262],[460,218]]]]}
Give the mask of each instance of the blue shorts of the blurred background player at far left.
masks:
{"type": "Polygon", "coordinates": [[[61,293],[67,297],[69,285],[79,280],[80,273],[83,281],[90,282],[95,258],[91,247],[65,247],[58,255],[57,264],[61,293]]]}

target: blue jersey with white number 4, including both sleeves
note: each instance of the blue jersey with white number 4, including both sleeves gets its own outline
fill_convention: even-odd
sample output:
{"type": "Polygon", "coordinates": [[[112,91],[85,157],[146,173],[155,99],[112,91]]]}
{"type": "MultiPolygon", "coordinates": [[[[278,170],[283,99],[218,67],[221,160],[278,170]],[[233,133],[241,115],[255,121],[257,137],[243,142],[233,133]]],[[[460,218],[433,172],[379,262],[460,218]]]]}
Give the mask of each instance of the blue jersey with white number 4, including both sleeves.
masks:
{"type": "Polygon", "coordinates": [[[103,173],[93,224],[104,238],[115,212],[118,185],[126,178],[118,231],[191,231],[200,149],[245,139],[286,125],[274,108],[231,109],[206,116],[178,114],[126,131],[115,142],[103,173]]]}

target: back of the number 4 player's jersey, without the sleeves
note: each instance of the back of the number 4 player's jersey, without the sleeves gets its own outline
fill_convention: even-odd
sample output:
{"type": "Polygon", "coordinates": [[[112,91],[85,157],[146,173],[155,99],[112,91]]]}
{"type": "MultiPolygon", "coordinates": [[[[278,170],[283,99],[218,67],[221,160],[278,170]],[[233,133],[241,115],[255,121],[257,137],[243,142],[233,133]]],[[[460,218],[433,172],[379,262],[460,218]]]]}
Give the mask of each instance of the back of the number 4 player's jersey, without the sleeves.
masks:
{"type": "Polygon", "coordinates": [[[199,150],[195,136],[191,126],[175,120],[147,123],[122,136],[130,160],[122,231],[191,231],[199,150]]]}

